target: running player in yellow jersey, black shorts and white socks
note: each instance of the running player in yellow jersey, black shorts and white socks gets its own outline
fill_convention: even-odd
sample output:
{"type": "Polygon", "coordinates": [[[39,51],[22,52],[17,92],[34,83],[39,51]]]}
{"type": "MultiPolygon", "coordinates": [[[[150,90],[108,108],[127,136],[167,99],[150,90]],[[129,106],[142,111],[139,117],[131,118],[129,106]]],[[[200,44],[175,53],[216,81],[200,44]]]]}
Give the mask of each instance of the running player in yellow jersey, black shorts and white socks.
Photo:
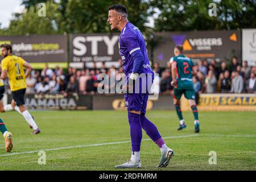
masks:
{"type": "Polygon", "coordinates": [[[21,57],[12,55],[12,47],[9,44],[2,44],[1,46],[2,56],[4,57],[2,65],[1,79],[9,77],[11,94],[15,104],[19,107],[24,119],[34,129],[32,134],[40,133],[38,126],[36,125],[34,118],[28,112],[25,106],[24,94],[26,92],[26,77],[30,75],[32,66],[24,61],[21,57]],[[27,68],[26,73],[24,68],[27,68]]]}

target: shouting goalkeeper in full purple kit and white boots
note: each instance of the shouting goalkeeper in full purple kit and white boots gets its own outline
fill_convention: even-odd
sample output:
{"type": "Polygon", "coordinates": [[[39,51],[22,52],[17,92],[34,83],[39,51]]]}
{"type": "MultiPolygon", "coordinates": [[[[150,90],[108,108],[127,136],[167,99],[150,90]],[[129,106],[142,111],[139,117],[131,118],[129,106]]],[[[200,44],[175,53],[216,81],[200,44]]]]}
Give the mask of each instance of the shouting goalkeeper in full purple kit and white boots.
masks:
{"type": "Polygon", "coordinates": [[[111,30],[118,29],[121,31],[119,37],[119,53],[122,58],[123,70],[126,75],[127,89],[129,90],[129,93],[125,93],[125,103],[128,111],[132,147],[131,159],[124,164],[115,166],[115,168],[141,168],[140,151],[142,129],[146,131],[147,135],[156,144],[158,144],[160,151],[162,152],[157,167],[166,167],[170,162],[172,155],[174,155],[174,151],[167,147],[156,126],[145,116],[148,92],[150,89],[145,93],[142,92],[145,87],[143,85],[145,81],[142,81],[142,85],[135,84],[134,86],[134,83],[141,79],[141,75],[146,75],[147,78],[150,76],[151,84],[152,80],[154,80],[154,72],[150,68],[143,35],[137,27],[127,20],[127,9],[123,5],[112,5],[109,7],[108,22],[111,30]],[[137,85],[139,85],[138,89],[136,88],[137,85]],[[135,92],[134,90],[137,90],[138,92],[135,92]],[[132,93],[130,93],[130,91],[132,93]]]}

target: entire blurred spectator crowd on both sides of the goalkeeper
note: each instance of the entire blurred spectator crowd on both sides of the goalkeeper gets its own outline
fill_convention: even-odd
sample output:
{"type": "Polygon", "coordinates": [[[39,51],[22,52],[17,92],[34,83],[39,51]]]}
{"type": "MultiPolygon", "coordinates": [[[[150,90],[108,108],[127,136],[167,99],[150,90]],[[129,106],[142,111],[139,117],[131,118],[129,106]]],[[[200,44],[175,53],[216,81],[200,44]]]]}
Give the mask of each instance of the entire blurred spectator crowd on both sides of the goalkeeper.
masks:
{"type": "MultiPolygon", "coordinates": [[[[98,80],[100,73],[114,76],[114,84],[121,80],[123,73],[122,61],[119,60],[119,67],[106,68],[102,63],[101,67],[93,64],[92,68],[75,69],[69,67],[66,72],[58,66],[55,69],[48,67],[42,71],[34,70],[26,78],[26,93],[50,93],[50,94],[94,94],[97,93],[98,80]]],[[[197,74],[192,80],[196,93],[256,93],[256,65],[249,67],[247,61],[238,63],[237,57],[232,58],[232,64],[227,66],[225,61],[217,64],[215,60],[200,60],[195,65],[197,74]]],[[[174,88],[171,86],[171,65],[165,69],[160,69],[159,63],[154,63],[152,69],[155,73],[155,83],[159,86],[162,94],[173,94],[174,88]],[[156,74],[158,73],[158,74],[156,74]]],[[[112,82],[113,83],[113,82],[112,82]]],[[[115,85],[109,85],[109,89],[115,85]]]]}

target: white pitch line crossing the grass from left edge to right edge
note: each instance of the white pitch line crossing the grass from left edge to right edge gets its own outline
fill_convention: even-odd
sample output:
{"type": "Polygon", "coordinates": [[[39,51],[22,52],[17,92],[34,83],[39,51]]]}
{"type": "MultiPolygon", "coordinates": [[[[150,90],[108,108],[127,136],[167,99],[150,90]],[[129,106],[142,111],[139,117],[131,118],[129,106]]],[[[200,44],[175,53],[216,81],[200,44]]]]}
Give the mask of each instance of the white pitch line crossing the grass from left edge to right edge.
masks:
{"type": "MultiPolygon", "coordinates": [[[[174,139],[174,138],[188,138],[188,137],[256,137],[256,135],[221,135],[221,134],[193,134],[193,135],[180,135],[180,136],[172,136],[172,137],[163,137],[163,139],[174,139]]],[[[142,141],[148,141],[151,139],[143,139],[142,141]]],[[[58,148],[47,148],[43,151],[55,151],[55,150],[65,150],[69,148],[82,148],[82,147],[93,147],[93,146],[105,146],[110,144],[122,144],[122,143],[130,143],[131,141],[120,141],[120,142],[108,142],[108,143],[94,143],[94,144],[86,144],[79,146],[69,146],[69,147],[58,147],[58,148]]],[[[11,155],[20,155],[20,154],[34,154],[38,153],[41,150],[35,151],[26,151],[26,152],[13,152],[9,154],[0,155],[3,156],[11,156],[11,155]]]]}

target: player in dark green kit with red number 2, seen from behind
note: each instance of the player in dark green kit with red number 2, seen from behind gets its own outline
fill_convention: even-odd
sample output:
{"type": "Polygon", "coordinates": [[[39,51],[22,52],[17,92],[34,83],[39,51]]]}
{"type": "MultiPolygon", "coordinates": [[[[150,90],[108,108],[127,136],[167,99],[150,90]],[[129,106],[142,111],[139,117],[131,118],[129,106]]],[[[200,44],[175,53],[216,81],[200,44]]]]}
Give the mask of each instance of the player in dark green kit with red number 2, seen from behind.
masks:
{"type": "Polygon", "coordinates": [[[174,55],[170,59],[171,70],[172,70],[172,82],[171,85],[174,86],[174,105],[176,113],[180,119],[180,126],[178,130],[182,130],[187,125],[183,119],[181,109],[180,109],[180,98],[184,94],[185,98],[188,99],[189,105],[193,111],[195,118],[195,133],[199,133],[199,117],[198,110],[195,102],[195,90],[193,88],[192,73],[196,74],[196,70],[193,70],[193,62],[191,59],[183,55],[183,47],[175,46],[174,55]]]}

